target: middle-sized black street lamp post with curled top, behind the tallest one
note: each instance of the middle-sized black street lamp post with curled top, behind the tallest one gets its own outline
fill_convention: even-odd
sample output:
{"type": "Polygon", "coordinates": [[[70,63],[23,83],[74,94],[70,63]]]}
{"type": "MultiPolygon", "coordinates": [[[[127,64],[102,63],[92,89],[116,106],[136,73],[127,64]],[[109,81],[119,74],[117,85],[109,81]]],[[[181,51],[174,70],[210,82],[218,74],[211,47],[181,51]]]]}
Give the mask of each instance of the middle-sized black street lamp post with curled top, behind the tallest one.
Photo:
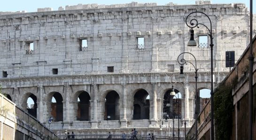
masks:
{"type": "MultiPolygon", "coordinates": [[[[194,111],[194,126],[195,126],[195,140],[197,140],[197,117],[198,117],[198,103],[199,103],[199,96],[198,96],[198,91],[197,91],[197,67],[196,67],[196,59],[194,57],[194,60],[195,60],[195,65],[189,61],[186,61],[184,58],[181,58],[179,60],[179,56],[181,55],[184,55],[184,54],[190,54],[194,57],[194,55],[192,53],[189,53],[189,52],[183,52],[181,54],[178,55],[178,63],[180,64],[180,75],[183,75],[183,65],[184,64],[187,64],[187,63],[190,63],[192,64],[192,66],[194,67],[195,69],[195,111],[194,111]]],[[[186,123],[186,121],[185,121],[186,123]]],[[[185,124],[185,127],[186,127],[186,124],[185,124]]],[[[185,137],[186,137],[186,130],[185,130],[185,137]]]]}

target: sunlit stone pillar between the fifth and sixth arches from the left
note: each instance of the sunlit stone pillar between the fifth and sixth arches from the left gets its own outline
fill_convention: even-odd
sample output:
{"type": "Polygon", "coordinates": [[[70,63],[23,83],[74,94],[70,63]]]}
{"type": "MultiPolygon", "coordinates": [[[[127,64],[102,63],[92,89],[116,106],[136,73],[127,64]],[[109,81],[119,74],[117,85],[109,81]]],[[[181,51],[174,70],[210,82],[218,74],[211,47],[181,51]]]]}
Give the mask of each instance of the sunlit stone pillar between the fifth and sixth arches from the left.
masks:
{"type": "Polygon", "coordinates": [[[152,91],[153,91],[153,98],[152,98],[152,115],[151,115],[151,119],[150,119],[150,125],[149,127],[157,127],[157,83],[152,83],[152,91]]]}

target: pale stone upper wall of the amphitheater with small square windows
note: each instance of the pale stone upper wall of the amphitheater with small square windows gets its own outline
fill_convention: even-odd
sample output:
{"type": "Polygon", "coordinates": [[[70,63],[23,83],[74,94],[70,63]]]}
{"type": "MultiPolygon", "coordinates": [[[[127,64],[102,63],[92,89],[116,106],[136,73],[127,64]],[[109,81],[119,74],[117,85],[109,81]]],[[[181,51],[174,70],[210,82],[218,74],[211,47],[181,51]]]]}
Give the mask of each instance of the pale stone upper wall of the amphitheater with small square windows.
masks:
{"type": "MultiPolygon", "coordinates": [[[[248,45],[248,8],[241,3],[157,6],[132,2],[51,10],[0,13],[2,77],[178,72],[177,57],[185,51],[195,55],[200,71],[209,71],[210,49],[186,46],[185,18],[194,11],[205,12],[212,20],[215,71],[228,71],[223,61],[226,51],[234,50],[238,60],[248,45]],[[143,49],[138,48],[139,37],[145,38],[143,49]],[[80,45],[82,39],[88,42],[86,50],[80,45]]],[[[201,14],[196,16],[209,25],[201,14]]],[[[205,28],[195,28],[195,33],[197,40],[208,35],[205,28]]],[[[188,67],[187,71],[194,70],[188,67]]]]}

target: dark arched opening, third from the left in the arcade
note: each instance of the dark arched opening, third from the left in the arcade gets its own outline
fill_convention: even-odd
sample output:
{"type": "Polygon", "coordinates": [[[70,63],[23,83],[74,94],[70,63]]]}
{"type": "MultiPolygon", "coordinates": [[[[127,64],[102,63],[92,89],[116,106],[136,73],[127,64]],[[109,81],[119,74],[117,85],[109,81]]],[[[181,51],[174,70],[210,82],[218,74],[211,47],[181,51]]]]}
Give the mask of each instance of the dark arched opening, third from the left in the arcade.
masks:
{"type": "Polygon", "coordinates": [[[90,95],[85,91],[79,94],[77,120],[90,120],[90,99],[90,95]]]}

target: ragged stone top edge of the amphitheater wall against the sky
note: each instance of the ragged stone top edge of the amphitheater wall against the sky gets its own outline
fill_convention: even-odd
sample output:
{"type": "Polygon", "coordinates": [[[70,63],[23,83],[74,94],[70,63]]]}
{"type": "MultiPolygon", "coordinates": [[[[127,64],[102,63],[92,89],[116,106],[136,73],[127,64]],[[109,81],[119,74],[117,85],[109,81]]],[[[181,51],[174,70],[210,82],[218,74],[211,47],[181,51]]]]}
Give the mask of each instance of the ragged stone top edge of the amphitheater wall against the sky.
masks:
{"type": "MultiPolygon", "coordinates": [[[[20,16],[36,16],[45,15],[45,14],[63,14],[64,11],[69,13],[105,13],[107,11],[128,11],[132,14],[138,14],[138,10],[141,10],[143,14],[148,14],[148,10],[151,10],[150,14],[159,14],[158,9],[167,10],[169,9],[170,13],[174,14],[186,14],[193,12],[194,10],[206,10],[205,12],[228,12],[226,14],[248,14],[248,7],[243,3],[228,3],[228,4],[211,4],[210,0],[196,0],[194,5],[178,5],[172,2],[165,4],[164,6],[157,6],[157,3],[126,3],[126,4],[114,4],[114,5],[98,5],[98,4],[78,4],[74,6],[65,6],[59,7],[58,10],[54,11],[51,7],[38,8],[37,12],[26,13],[26,11],[17,11],[17,12],[0,12],[0,15],[9,15],[9,14],[18,14],[20,16]]],[[[115,13],[112,13],[115,14],[115,13]]],[[[117,13],[120,14],[120,13],[117,13]]],[[[122,13],[125,14],[125,13],[122,13]]],[[[127,13],[126,13],[127,14],[127,13]]],[[[96,16],[99,16],[95,14],[96,16]]],[[[15,16],[15,15],[14,15],[15,16]]]]}

